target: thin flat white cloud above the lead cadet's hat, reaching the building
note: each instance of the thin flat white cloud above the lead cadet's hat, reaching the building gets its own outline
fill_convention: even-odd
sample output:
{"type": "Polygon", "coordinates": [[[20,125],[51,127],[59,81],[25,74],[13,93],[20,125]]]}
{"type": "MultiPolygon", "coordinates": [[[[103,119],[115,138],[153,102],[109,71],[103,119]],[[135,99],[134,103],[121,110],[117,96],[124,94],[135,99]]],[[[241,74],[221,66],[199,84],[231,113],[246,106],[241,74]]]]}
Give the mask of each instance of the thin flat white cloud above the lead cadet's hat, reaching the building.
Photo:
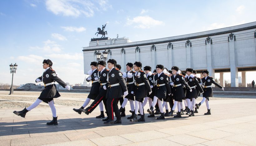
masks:
{"type": "Polygon", "coordinates": [[[83,54],[82,53],[74,53],[72,55],[70,54],[49,54],[45,55],[47,57],[56,58],[56,59],[65,59],[65,60],[83,60],[83,54]]]}

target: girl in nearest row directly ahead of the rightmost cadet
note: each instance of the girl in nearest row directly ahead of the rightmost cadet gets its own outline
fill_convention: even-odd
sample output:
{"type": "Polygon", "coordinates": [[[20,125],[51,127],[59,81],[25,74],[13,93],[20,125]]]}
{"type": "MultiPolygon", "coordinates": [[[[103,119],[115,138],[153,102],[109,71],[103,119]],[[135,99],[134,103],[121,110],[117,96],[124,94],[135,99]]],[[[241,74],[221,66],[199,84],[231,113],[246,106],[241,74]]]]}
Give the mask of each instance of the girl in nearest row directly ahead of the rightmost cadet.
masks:
{"type": "Polygon", "coordinates": [[[186,91],[186,100],[188,103],[188,112],[186,115],[189,116],[194,116],[194,104],[195,103],[195,98],[197,98],[198,93],[196,90],[196,87],[199,87],[199,92],[203,92],[203,89],[201,88],[197,78],[195,75],[192,74],[193,69],[192,68],[187,68],[186,69],[187,75],[185,76],[185,81],[189,84],[190,88],[192,89],[192,92],[189,92],[188,90],[186,91]],[[191,110],[191,113],[190,113],[191,110]]]}

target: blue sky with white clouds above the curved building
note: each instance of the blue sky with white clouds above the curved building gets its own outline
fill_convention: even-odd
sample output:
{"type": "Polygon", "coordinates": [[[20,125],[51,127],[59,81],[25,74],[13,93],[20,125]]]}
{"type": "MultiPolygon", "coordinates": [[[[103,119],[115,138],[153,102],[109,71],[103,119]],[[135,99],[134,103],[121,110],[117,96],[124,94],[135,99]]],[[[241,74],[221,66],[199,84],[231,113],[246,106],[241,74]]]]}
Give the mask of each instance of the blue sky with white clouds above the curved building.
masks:
{"type": "Polygon", "coordinates": [[[13,84],[35,83],[44,59],[64,82],[83,83],[82,47],[106,23],[107,37],[135,42],[254,22],[255,6],[254,0],[1,0],[0,84],[11,84],[11,63],[18,65],[13,84]]]}

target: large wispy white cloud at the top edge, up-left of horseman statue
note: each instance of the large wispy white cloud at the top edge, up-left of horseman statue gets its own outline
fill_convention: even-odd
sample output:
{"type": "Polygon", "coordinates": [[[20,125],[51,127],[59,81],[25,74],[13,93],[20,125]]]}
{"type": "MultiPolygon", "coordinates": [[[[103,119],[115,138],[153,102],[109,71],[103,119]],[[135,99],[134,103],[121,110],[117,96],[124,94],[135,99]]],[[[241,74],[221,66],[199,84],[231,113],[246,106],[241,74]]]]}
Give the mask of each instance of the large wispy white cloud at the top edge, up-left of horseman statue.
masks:
{"type": "Polygon", "coordinates": [[[55,15],[74,16],[85,15],[91,17],[94,15],[94,4],[83,0],[47,0],[46,8],[55,15]]]}

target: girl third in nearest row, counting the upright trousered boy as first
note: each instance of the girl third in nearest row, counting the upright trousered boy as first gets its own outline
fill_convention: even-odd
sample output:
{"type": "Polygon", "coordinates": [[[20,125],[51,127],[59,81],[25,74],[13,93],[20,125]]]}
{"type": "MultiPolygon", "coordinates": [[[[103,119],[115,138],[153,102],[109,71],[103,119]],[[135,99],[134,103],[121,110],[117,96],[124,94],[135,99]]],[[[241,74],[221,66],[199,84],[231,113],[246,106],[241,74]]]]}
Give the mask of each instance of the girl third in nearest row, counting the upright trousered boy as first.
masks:
{"type": "Polygon", "coordinates": [[[154,85],[156,86],[155,88],[155,96],[154,96],[154,100],[152,103],[152,106],[150,107],[150,109],[147,110],[147,112],[149,112],[149,114],[151,115],[154,111],[153,111],[153,106],[156,105],[156,102],[158,102],[158,107],[160,109],[161,112],[161,116],[157,117],[157,120],[161,120],[161,119],[165,119],[164,116],[164,109],[162,106],[162,99],[166,98],[166,94],[170,95],[171,94],[171,88],[169,85],[169,80],[168,80],[168,75],[164,74],[164,66],[159,64],[156,66],[156,71],[157,71],[157,75],[154,75],[153,77],[153,81],[154,81],[154,85]]]}

